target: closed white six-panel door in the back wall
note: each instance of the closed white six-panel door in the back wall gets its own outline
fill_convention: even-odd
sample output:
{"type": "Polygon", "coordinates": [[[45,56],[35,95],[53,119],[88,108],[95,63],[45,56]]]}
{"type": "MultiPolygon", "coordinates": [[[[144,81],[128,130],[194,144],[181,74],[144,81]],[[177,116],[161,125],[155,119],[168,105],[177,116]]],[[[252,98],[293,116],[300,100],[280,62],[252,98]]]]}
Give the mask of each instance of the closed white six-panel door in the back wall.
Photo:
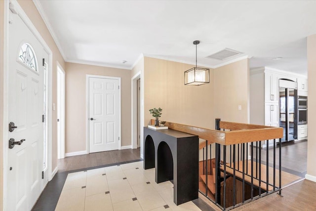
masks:
{"type": "Polygon", "coordinates": [[[118,79],[89,77],[89,152],[119,148],[118,79]]]}

